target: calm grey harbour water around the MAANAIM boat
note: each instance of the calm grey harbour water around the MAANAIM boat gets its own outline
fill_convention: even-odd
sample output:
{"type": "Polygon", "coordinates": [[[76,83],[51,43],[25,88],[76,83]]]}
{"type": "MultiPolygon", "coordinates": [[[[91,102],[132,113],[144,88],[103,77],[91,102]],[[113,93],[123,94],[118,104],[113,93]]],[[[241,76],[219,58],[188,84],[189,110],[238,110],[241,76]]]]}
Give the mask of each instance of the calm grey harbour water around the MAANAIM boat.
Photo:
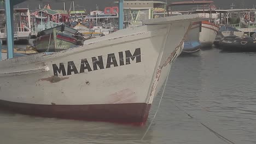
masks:
{"type": "Polygon", "coordinates": [[[0,143],[256,143],[256,53],[217,49],[178,57],[148,124],[38,118],[0,112],[0,143]],[[205,126],[203,126],[205,125],[205,126]],[[215,132],[215,133],[214,133],[215,132]]]}

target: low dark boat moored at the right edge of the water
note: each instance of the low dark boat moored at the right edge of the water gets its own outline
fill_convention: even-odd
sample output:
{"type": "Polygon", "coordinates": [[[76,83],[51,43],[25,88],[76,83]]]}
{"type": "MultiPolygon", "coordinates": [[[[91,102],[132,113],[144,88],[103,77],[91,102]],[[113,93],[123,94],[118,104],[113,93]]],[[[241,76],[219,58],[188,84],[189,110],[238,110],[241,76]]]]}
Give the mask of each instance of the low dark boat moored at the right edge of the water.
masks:
{"type": "Polygon", "coordinates": [[[224,51],[255,52],[256,39],[248,36],[229,36],[220,39],[219,46],[219,49],[224,51]]]}

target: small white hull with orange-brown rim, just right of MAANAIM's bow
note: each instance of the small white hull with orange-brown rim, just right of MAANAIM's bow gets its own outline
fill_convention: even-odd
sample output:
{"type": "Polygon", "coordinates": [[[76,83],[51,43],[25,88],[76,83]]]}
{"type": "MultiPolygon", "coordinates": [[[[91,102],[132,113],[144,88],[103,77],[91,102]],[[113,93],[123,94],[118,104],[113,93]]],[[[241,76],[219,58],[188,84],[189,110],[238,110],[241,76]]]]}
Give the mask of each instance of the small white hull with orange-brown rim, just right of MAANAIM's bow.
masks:
{"type": "Polygon", "coordinates": [[[200,43],[202,47],[211,47],[218,32],[219,28],[217,25],[213,25],[208,21],[202,21],[200,32],[200,43]]]}

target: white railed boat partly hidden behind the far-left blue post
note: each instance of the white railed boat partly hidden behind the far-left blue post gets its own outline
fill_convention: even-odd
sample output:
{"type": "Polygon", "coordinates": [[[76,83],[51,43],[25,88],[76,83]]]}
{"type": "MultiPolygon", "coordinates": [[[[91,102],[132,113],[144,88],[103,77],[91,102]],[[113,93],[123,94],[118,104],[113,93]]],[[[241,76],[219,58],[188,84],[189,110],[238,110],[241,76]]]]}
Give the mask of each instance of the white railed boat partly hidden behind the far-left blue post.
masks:
{"type": "MultiPolygon", "coordinates": [[[[5,10],[0,10],[1,15],[5,15],[5,10]]],[[[5,17],[5,16],[3,16],[5,17]]],[[[5,18],[1,20],[2,27],[0,27],[0,39],[4,42],[7,41],[7,32],[5,26],[5,18]]],[[[30,10],[28,8],[14,9],[14,41],[21,41],[28,43],[31,37],[30,25],[30,10]]]]}

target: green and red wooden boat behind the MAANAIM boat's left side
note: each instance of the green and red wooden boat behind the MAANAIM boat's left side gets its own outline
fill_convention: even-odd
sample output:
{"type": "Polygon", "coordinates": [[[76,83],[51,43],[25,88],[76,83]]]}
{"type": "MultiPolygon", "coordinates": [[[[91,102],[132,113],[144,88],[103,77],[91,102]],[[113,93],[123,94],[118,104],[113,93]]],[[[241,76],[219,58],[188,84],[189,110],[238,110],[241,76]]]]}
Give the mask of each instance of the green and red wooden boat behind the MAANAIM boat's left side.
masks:
{"type": "Polygon", "coordinates": [[[60,25],[39,32],[33,44],[38,52],[56,52],[83,45],[83,39],[76,29],[60,25]]]}

